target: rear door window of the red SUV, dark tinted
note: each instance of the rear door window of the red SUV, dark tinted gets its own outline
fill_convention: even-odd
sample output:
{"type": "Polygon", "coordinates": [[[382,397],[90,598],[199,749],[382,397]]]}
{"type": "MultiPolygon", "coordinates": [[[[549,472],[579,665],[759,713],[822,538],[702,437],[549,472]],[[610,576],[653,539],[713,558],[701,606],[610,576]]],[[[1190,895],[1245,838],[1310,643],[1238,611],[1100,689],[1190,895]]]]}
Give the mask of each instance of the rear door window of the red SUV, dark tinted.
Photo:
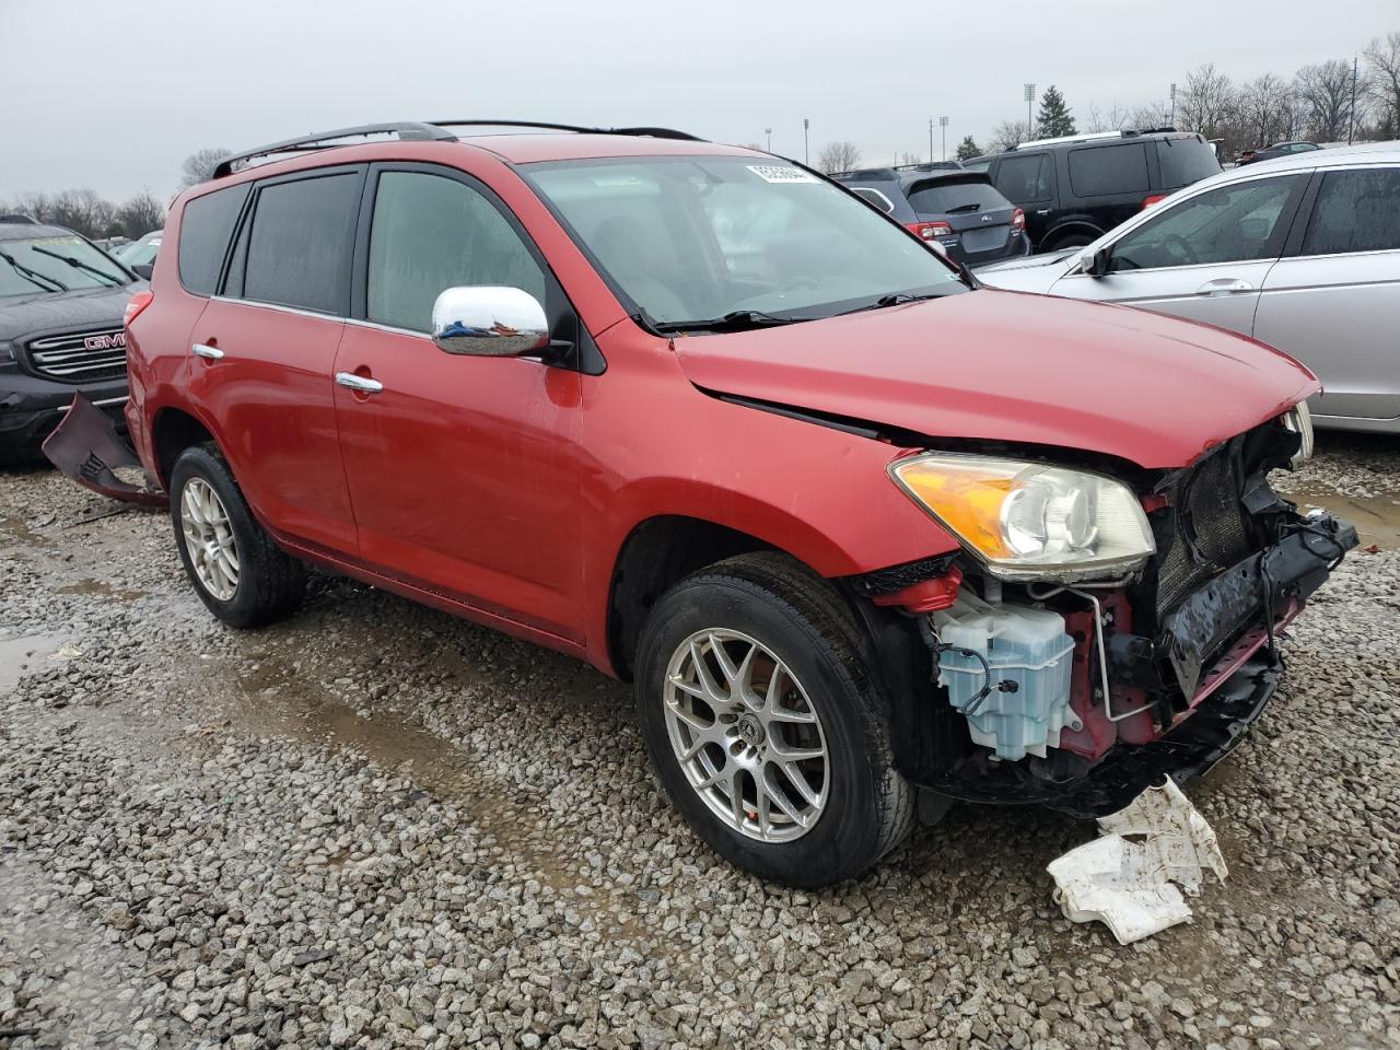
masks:
{"type": "Polygon", "coordinates": [[[358,172],[263,186],[248,237],[242,297],[349,314],[358,207],[358,172]]]}

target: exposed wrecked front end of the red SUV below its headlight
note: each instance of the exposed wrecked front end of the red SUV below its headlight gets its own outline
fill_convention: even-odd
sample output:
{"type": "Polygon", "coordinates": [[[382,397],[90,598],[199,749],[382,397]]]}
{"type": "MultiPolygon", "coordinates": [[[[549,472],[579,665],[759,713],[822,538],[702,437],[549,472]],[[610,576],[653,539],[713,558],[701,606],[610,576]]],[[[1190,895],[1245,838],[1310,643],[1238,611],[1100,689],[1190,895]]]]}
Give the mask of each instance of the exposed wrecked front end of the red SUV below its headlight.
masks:
{"type": "Polygon", "coordinates": [[[952,798],[1103,816],[1219,762],[1277,689],[1277,634],[1357,545],[1351,525],[1303,517],[1270,487],[1302,444],[1275,420],[1131,479],[1151,553],[1128,571],[1007,573],[965,540],[851,581],[869,599],[904,776],[952,798]]]}

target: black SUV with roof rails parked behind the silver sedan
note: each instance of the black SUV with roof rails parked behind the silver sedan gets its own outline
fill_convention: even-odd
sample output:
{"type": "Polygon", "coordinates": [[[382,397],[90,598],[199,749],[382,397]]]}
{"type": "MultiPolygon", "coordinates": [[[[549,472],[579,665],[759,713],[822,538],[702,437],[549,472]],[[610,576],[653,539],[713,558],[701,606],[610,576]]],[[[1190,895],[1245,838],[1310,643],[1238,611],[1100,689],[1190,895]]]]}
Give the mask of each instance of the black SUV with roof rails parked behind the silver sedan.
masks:
{"type": "Polygon", "coordinates": [[[1025,209],[1039,252],[1091,244],[1168,193],[1221,169],[1204,136],[1170,129],[1042,139],[965,167],[986,171],[1025,209]]]}

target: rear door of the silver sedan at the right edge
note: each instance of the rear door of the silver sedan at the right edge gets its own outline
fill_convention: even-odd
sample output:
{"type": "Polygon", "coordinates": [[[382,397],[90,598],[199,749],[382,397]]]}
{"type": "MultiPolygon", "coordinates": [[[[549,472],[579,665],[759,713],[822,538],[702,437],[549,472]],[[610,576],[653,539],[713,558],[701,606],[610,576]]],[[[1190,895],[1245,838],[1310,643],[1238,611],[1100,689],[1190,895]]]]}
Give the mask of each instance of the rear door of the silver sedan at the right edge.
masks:
{"type": "MultiPolygon", "coordinates": [[[[1270,270],[1254,336],[1312,368],[1319,416],[1400,416],[1400,167],[1320,171],[1302,235],[1270,270]]],[[[1302,225],[1302,224],[1299,224],[1302,225]]]]}

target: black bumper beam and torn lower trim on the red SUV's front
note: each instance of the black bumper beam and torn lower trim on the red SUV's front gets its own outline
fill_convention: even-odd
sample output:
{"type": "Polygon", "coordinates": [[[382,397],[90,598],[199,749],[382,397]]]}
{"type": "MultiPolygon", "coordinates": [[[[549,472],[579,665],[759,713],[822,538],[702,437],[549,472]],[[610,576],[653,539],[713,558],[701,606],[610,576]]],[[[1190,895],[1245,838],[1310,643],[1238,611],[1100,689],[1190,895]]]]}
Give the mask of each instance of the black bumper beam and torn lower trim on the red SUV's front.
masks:
{"type": "MultiPolygon", "coordinates": [[[[892,715],[902,771],[939,795],[1039,804],[1078,818],[1123,809],[1166,778],[1186,784],[1200,777],[1239,746],[1260,718],[1282,672],[1277,634],[1357,546],[1355,529],[1329,515],[1302,518],[1289,510],[1287,522],[1275,543],[1190,594],[1154,633],[1105,630],[1103,671],[1106,683],[1112,679],[1113,703],[1133,697],[1141,704],[1135,721],[1116,724],[1102,722],[1099,707],[1093,708],[1100,724],[1116,734],[1105,753],[1086,757],[1051,748],[1046,757],[998,760],[970,742],[967,720],[939,690],[930,701],[928,680],[937,682],[938,672],[925,664],[907,683],[923,701],[896,704],[892,715]],[[1144,697],[1149,700],[1144,703],[1144,697]]],[[[1113,608],[1112,599],[1105,599],[1105,608],[1113,608]]],[[[1072,616],[1067,620],[1075,623],[1072,616]]],[[[1079,623],[1092,622],[1089,615],[1079,623]]],[[[1088,694],[1098,703],[1095,645],[1084,637],[1079,641],[1075,673],[1089,683],[1088,694]]],[[[886,665],[892,655],[918,655],[910,651],[914,647],[903,657],[895,654],[889,629],[883,641],[876,634],[876,644],[886,650],[886,665]]],[[[1077,708],[1077,715],[1088,714],[1077,708]]],[[[1061,743],[1072,750],[1086,732],[1088,727],[1077,732],[1067,728],[1061,743]]]]}

